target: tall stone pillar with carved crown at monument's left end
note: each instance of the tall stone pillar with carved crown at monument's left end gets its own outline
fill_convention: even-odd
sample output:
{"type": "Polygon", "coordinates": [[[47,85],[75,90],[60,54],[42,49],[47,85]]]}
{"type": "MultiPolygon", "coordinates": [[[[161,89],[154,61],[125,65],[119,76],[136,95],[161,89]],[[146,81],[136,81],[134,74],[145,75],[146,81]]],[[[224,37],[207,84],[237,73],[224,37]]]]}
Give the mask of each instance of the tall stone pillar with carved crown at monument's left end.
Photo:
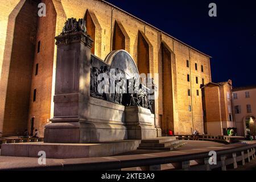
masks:
{"type": "Polygon", "coordinates": [[[46,125],[44,141],[80,143],[80,120],[88,115],[92,39],[84,22],[70,18],[56,38],[57,62],[54,117],[46,125]]]}

